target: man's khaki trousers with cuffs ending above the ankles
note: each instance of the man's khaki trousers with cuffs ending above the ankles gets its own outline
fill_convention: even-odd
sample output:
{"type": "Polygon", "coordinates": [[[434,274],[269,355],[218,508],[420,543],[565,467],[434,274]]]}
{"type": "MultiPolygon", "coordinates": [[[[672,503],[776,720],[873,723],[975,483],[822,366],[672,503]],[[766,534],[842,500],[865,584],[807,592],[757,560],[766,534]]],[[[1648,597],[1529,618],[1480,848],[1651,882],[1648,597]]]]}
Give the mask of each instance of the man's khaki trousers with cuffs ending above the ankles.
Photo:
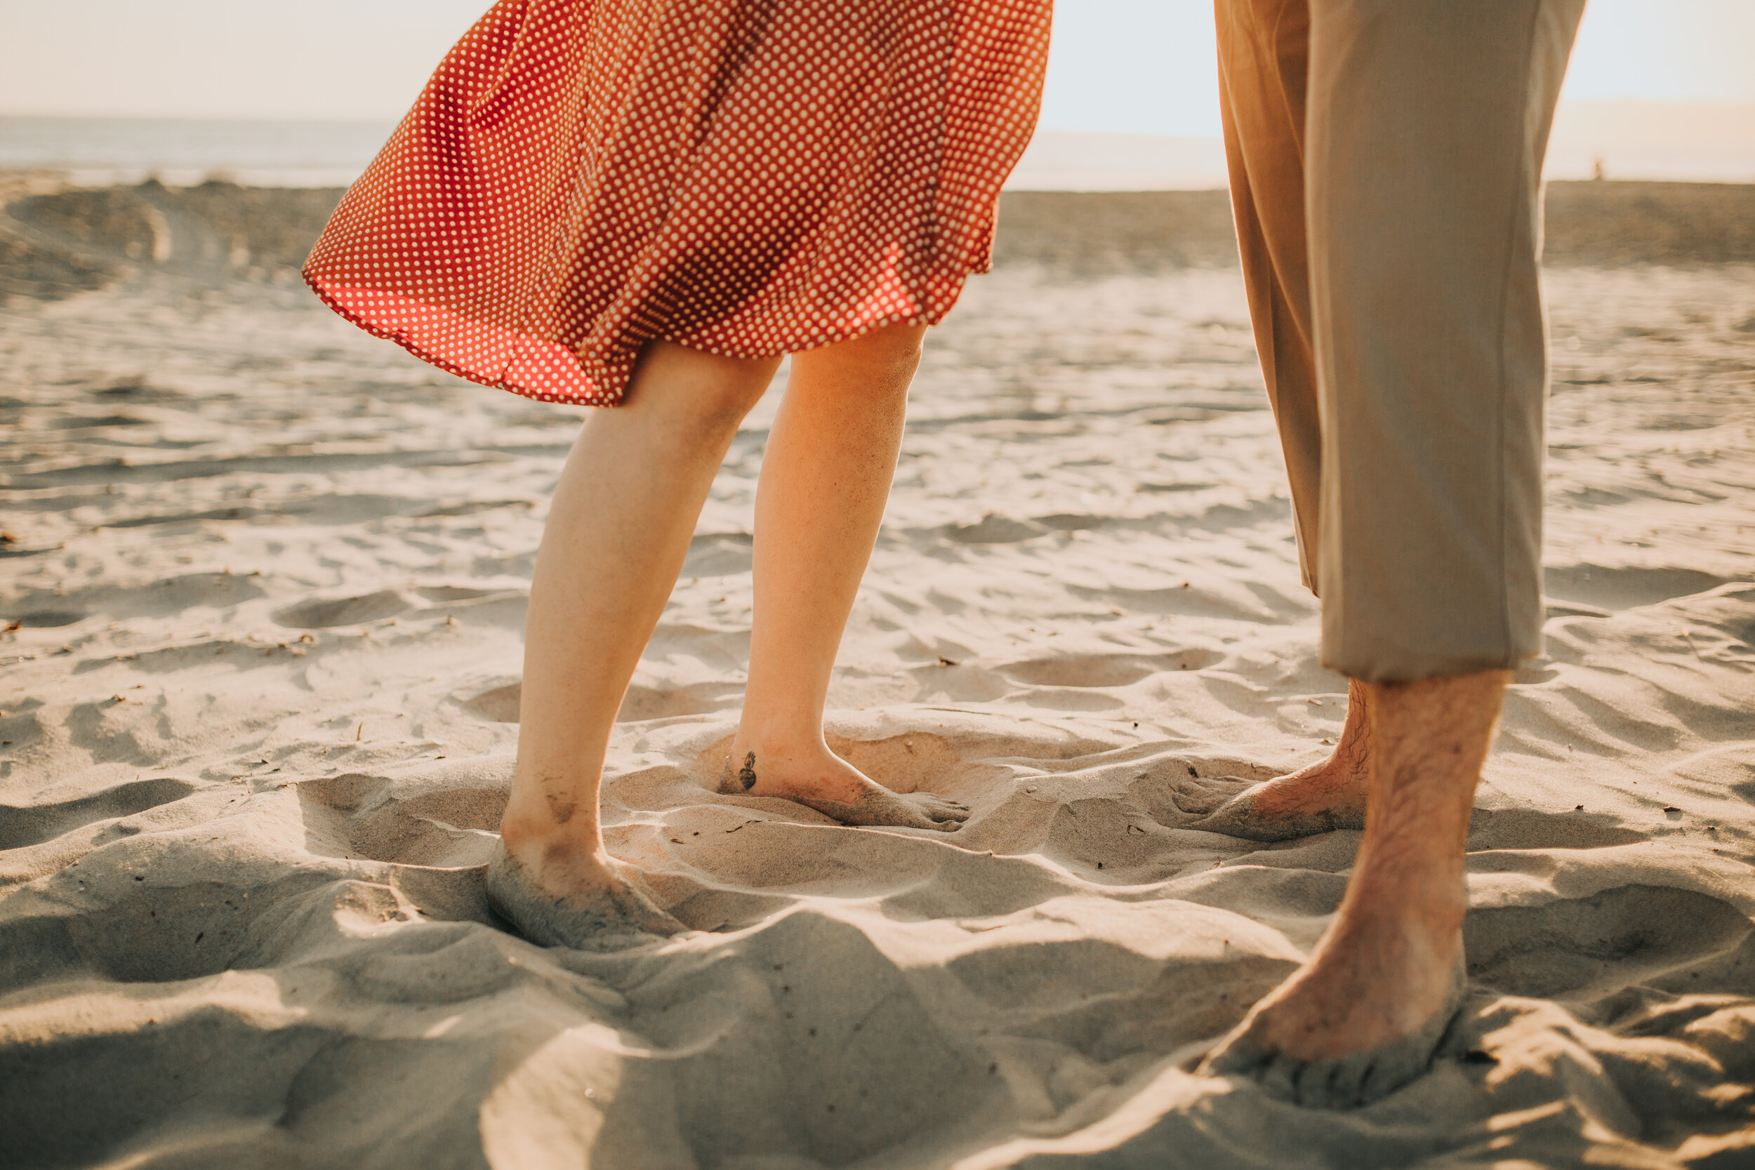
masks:
{"type": "Polygon", "coordinates": [[[1230,189],[1323,665],[1541,653],[1541,163],[1583,0],[1216,0],[1230,189]]]}

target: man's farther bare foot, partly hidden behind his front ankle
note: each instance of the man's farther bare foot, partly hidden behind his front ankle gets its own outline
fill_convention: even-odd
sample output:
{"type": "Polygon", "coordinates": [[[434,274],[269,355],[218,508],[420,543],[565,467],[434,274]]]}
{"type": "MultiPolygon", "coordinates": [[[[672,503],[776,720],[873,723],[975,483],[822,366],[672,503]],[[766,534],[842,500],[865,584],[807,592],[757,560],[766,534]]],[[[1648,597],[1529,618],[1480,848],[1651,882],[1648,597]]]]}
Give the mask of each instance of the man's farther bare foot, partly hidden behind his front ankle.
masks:
{"type": "Polygon", "coordinates": [[[1181,781],[1171,800],[1183,812],[1206,814],[1188,828],[1244,840],[1292,840],[1365,828],[1371,724],[1364,691],[1358,682],[1348,688],[1346,726],[1327,760],[1260,784],[1227,777],[1181,781]]]}

